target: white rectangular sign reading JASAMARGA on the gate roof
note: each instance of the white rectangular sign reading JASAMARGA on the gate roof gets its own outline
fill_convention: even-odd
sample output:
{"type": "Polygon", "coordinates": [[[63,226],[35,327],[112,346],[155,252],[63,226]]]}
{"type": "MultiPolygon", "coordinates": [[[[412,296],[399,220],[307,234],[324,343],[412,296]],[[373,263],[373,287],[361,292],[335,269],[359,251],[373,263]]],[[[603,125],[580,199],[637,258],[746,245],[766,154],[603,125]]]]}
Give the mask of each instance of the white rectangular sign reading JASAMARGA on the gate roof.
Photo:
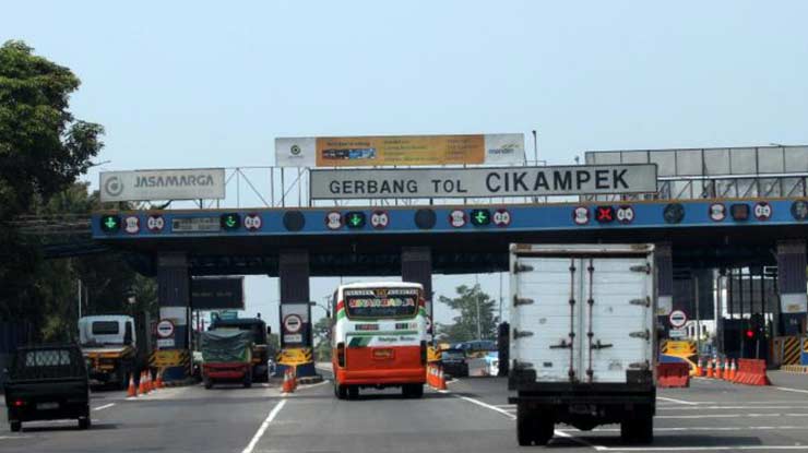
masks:
{"type": "Polygon", "coordinates": [[[224,168],[104,171],[100,174],[102,203],[224,198],[224,168]]]}

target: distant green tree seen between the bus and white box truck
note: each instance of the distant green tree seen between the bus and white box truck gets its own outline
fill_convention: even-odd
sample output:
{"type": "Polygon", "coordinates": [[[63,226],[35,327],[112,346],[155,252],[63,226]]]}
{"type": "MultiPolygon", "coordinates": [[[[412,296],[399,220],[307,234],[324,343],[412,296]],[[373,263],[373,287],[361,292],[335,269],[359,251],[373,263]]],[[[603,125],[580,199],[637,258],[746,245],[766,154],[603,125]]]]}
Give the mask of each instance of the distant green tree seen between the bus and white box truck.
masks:
{"type": "Polygon", "coordinates": [[[440,339],[467,342],[471,339],[495,339],[497,337],[497,317],[494,315],[494,299],[483,293],[479,285],[456,288],[458,297],[440,296],[439,301],[460,312],[454,324],[438,324],[440,339]],[[479,320],[479,323],[478,323],[479,320]],[[479,335],[478,335],[479,326],[479,335]]]}

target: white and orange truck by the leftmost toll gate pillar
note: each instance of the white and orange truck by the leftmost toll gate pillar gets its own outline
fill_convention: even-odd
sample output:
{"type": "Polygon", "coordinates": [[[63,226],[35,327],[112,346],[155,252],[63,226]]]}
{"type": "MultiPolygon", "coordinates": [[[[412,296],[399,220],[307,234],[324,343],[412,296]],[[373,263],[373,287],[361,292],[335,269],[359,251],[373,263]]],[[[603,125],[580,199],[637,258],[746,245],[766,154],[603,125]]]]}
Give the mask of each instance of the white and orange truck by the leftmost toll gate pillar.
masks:
{"type": "Polygon", "coordinates": [[[80,319],[79,342],[91,381],[126,389],[136,367],[136,339],[132,317],[104,314],[80,319]]]}

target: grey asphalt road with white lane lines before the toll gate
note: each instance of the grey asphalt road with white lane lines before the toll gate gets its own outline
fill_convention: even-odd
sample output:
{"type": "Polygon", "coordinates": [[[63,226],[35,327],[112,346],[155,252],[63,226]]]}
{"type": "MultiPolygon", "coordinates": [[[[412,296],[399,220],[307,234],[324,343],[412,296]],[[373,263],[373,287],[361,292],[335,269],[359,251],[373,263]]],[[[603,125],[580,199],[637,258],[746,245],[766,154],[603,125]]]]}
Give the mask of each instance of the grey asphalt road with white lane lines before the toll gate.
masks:
{"type": "MultiPolygon", "coordinates": [[[[808,374],[772,373],[771,388],[696,380],[660,391],[655,442],[625,448],[619,427],[580,432],[559,426],[549,449],[563,452],[808,451],[808,374]]],[[[9,431],[2,452],[515,452],[515,409],[502,379],[466,379],[423,400],[367,391],[337,401],[330,382],[282,395],[276,385],[206,391],[164,389],[127,400],[93,394],[93,428],[72,420],[9,431]]]]}

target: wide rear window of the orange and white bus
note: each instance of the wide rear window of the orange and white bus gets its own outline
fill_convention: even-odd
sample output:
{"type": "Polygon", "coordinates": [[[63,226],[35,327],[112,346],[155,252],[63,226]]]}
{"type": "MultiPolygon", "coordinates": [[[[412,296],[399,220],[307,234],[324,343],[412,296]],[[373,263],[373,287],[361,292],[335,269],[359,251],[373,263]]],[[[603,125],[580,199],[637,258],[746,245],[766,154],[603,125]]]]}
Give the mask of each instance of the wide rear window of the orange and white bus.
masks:
{"type": "Polygon", "coordinates": [[[346,289],[344,295],[348,318],[413,318],[418,312],[417,288],[346,289]]]}

